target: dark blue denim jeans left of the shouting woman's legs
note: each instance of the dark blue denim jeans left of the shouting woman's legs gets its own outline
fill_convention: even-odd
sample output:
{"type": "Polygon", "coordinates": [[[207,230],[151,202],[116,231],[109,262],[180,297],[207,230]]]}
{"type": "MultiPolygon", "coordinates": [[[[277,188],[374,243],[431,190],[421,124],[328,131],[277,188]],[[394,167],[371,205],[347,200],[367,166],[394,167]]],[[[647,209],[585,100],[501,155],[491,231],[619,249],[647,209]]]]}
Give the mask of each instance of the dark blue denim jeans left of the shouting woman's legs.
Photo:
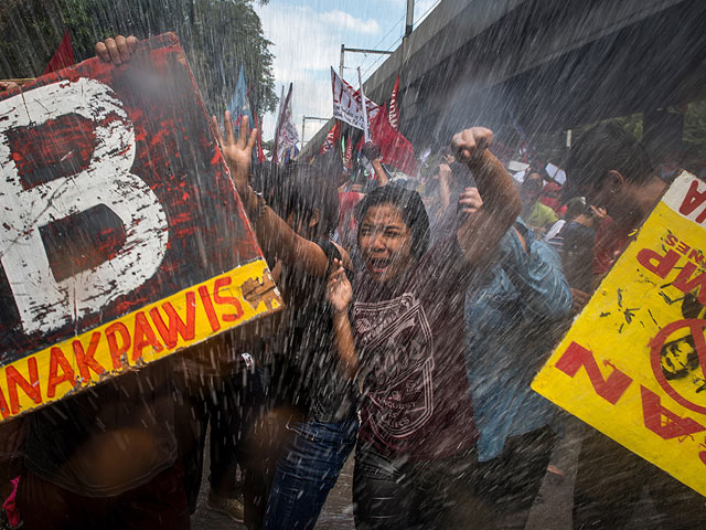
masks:
{"type": "Polygon", "coordinates": [[[355,445],[357,418],[338,423],[289,423],[277,460],[265,530],[311,529],[355,445]]]}

